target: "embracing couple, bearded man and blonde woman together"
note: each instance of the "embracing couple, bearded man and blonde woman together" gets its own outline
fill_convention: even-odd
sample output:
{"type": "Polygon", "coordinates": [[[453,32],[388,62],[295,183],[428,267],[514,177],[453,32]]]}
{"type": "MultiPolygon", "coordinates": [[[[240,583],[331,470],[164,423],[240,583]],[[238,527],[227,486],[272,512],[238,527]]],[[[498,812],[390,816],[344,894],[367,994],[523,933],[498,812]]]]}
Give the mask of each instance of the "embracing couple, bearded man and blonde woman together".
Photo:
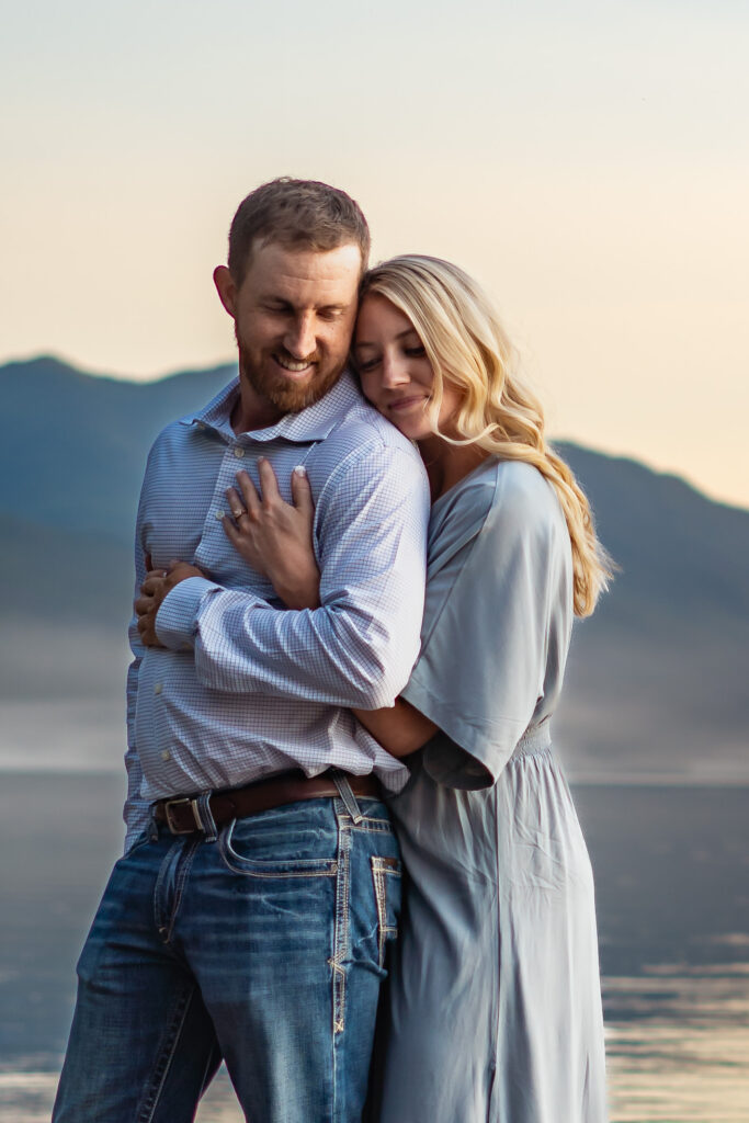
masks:
{"type": "Polygon", "coordinates": [[[327,184],[234,218],[239,378],[143,485],[126,852],[55,1123],[188,1123],[221,1059],[253,1123],[605,1120],[551,750],[605,555],[481,287],[368,255],[327,184]]]}

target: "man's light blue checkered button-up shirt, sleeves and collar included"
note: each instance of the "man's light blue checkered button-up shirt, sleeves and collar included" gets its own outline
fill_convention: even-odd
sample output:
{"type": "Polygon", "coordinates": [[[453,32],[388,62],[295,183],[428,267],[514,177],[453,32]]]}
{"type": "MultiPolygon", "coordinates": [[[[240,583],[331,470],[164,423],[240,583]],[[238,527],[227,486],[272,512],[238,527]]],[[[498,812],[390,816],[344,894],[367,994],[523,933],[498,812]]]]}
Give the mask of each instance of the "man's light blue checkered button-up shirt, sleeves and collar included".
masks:
{"type": "Polygon", "coordinates": [[[128,674],[126,848],[148,804],[236,787],[290,768],[374,772],[391,792],[408,778],[350,706],[392,705],[419,651],[429,491],[414,448],[344,374],[326,396],[254,432],[234,432],[238,383],[167,426],[148,457],[136,528],[136,590],[145,555],[208,579],[164,600],[144,648],[135,620],[128,674]],[[256,460],[291,500],[303,464],[314,497],[321,608],[284,606],[229,542],[225,490],[256,460]]]}

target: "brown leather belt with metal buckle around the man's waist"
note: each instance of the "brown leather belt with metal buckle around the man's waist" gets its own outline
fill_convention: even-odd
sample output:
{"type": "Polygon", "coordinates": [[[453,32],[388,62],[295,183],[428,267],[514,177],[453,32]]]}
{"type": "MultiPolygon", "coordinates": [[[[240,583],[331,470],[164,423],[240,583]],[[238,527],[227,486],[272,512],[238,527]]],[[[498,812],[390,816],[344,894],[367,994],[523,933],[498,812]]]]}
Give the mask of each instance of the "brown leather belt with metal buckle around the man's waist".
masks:
{"type": "MultiPolygon", "coordinates": [[[[341,773],[340,775],[348,780],[354,795],[364,800],[382,800],[380,780],[372,774],[351,776],[341,773]]],[[[214,792],[208,801],[208,806],[216,825],[226,827],[232,819],[257,815],[261,811],[271,811],[284,803],[335,798],[339,795],[331,773],[308,777],[303,772],[290,772],[247,784],[245,787],[214,792]]],[[[200,818],[198,796],[158,800],[153,805],[153,812],[156,822],[164,823],[172,834],[192,834],[205,830],[200,818]]]]}

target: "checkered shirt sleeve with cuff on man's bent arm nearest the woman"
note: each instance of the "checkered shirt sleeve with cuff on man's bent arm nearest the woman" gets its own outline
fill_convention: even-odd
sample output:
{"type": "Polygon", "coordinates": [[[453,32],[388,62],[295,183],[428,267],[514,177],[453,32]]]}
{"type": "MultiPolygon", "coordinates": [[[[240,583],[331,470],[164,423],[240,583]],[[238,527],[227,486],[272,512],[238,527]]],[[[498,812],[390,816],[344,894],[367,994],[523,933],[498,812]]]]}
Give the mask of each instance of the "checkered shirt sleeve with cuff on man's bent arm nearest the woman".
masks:
{"type": "Polygon", "coordinates": [[[190,578],[164,599],[158,638],[191,645],[198,677],[212,690],[392,705],[419,650],[428,519],[418,457],[367,445],[318,496],[320,608],[282,611],[190,578]]]}

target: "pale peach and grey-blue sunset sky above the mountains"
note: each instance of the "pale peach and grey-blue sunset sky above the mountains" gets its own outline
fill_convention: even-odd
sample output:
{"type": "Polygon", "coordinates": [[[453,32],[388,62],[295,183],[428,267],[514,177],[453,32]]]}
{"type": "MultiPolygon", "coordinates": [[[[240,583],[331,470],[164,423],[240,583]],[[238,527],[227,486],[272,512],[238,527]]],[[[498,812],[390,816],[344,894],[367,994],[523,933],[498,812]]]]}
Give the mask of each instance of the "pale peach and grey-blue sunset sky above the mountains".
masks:
{"type": "Polygon", "coordinates": [[[484,282],[552,435],[749,505],[749,6],[6,7],[0,363],[230,359],[236,204],[321,179],[484,282]]]}

